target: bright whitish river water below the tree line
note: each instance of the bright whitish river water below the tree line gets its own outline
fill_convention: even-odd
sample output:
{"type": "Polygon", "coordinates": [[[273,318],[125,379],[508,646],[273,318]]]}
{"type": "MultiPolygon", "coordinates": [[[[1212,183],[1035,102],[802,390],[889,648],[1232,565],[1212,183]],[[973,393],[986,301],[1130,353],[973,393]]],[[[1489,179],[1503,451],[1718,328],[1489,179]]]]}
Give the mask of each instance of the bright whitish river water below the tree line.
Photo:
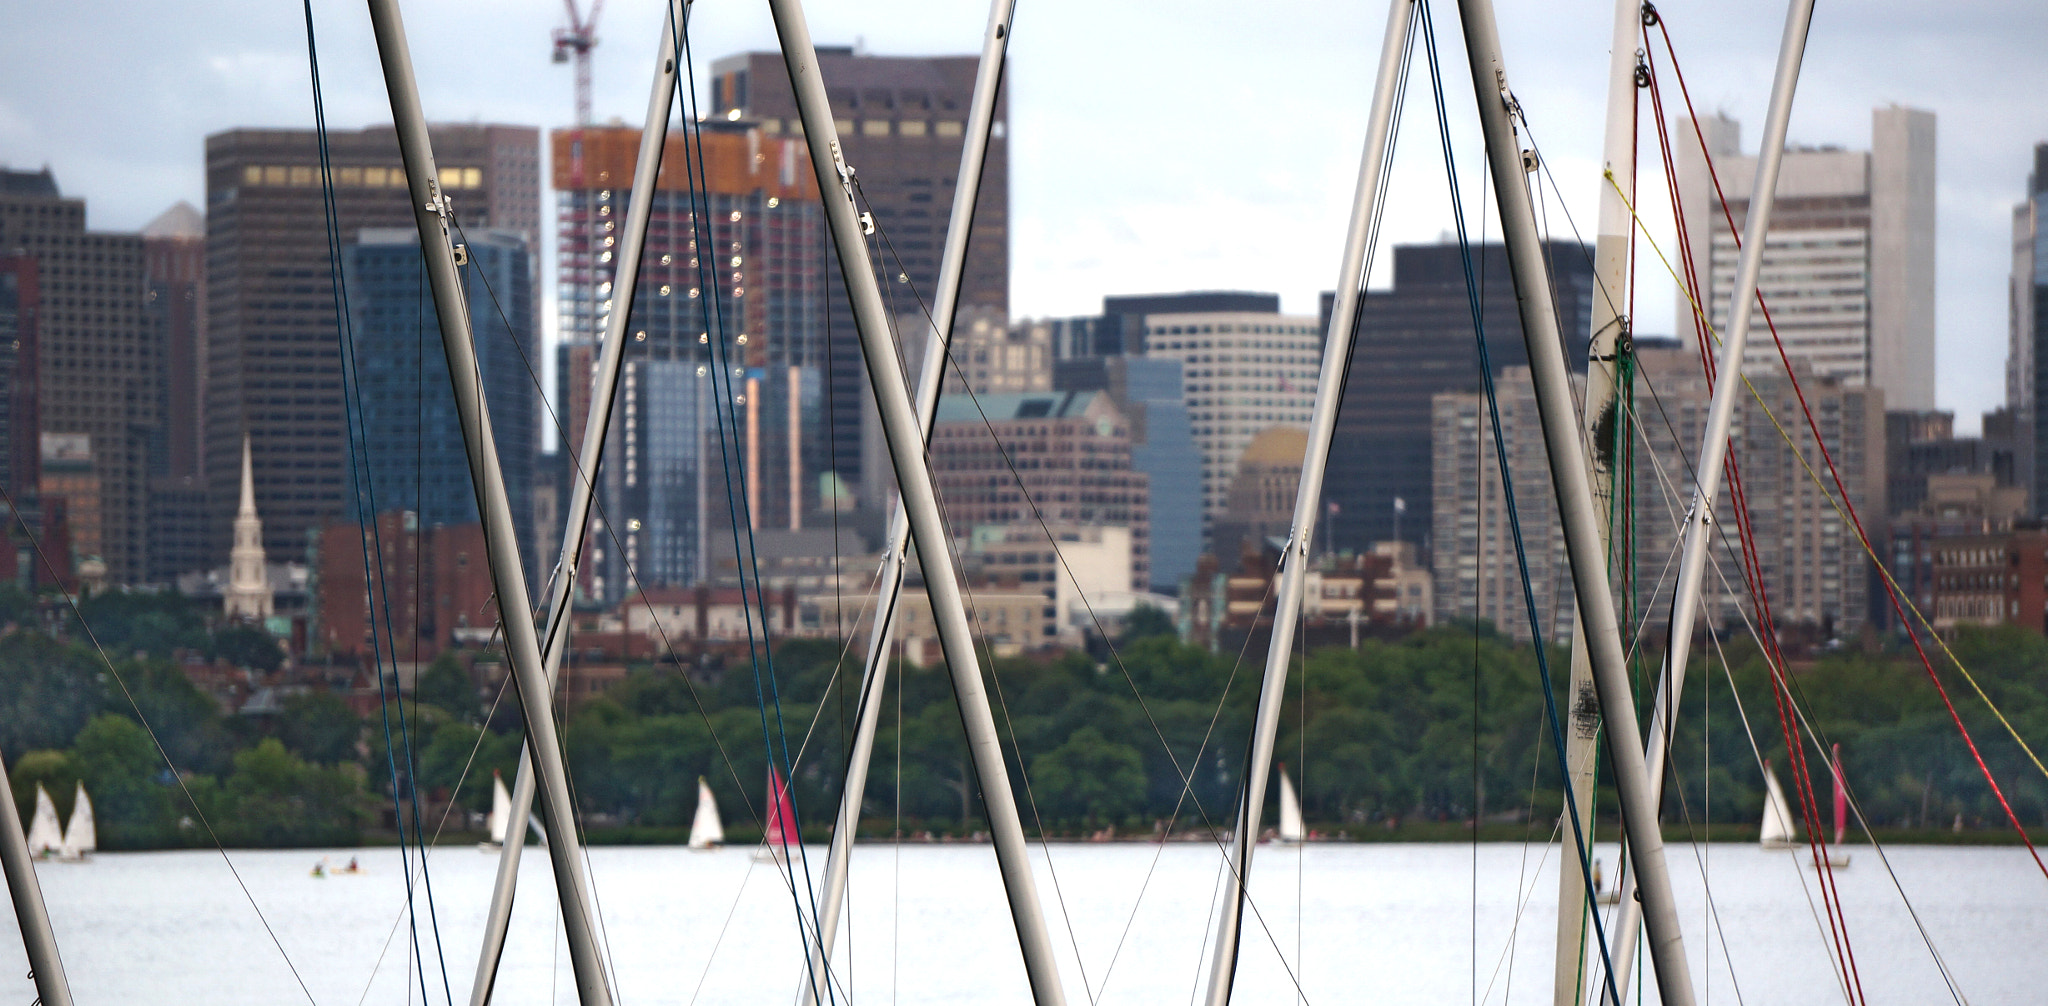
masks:
{"type": "MultiPolygon", "coordinates": [[[[1704,1004],[1843,1002],[1808,904],[1810,865],[1755,846],[1669,852],[1704,1004]]],[[[403,1004],[422,1000],[422,983],[426,1002],[467,1002],[496,856],[471,846],[430,856],[432,916],[416,879],[424,981],[395,848],[231,858],[240,885],[219,852],[39,867],[78,1002],[403,1004]],[[365,873],[315,879],[324,854],[354,856],[365,873]]],[[[809,858],[819,865],[823,850],[809,858]]],[[[1612,867],[1614,850],[1602,858],[1612,867]]],[[[1198,844],[1055,844],[1049,869],[1038,850],[1067,1000],[1188,1002],[1204,975],[1219,863],[1198,844]]],[[[1905,846],[1890,865],[1966,1002],[2048,1002],[2048,881],[2025,850],[1905,846]]],[[[793,1002],[803,955],[776,867],[743,848],[596,848],[590,867],[621,1004],[793,1002]]],[[[1837,885],[1868,1002],[1954,1002],[1876,852],[1858,848],[1837,885]]],[[[496,1002],[573,1002],[545,852],[528,852],[522,891],[496,1002]]],[[[1554,891],[1544,846],[1262,846],[1237,1002],[1296,1002],[1296,975],[1313,1004],[1546,1004],[1554,891]]],[[[860,846],[840,949],[831,977],[850,990],[840,1002],[1028,1002],[989,846],[860,846]]],[[[35,998],[25,971],[10,924],[0,1004],[35,998]]],[[[1651,990],[1645,1002],[1655,1000],[1651,990]]]]}

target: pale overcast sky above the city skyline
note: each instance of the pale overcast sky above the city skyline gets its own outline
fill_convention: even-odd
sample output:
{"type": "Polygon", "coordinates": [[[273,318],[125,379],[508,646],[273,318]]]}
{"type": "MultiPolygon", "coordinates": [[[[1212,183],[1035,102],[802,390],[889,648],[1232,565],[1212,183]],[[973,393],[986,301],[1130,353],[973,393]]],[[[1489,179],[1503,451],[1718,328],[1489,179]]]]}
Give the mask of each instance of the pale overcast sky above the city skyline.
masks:
{"type": "MultiPolygon", "coordinates": [[[[1569,213],[1591,240],[1612,4],[1497,0],[1509,84],[1569,213]]],[[[1483,168],[1452,0],[1438,0],[1454,141],[1468,197],[1483,168]]],[[[1784,27],[1778,0],[1663,6],[1700,111],[1761,131],[1784,27]]],[[[360,2],[315,0],[328,117],[389,119],[360,2]]],[[[549,61],[553,0],[406,4],[426,113],[436,121],[565,125],[571,74],[549,61]],[[479,12],[487,12],[481,14],[479,12]]],[[[694,64],[772,49],[760,0],[696,0],[694,64]]],[[[821,45],[973,53],[973,0],[813,0],[821,45]]],[[[1364,137],[1380,2],[1018,0],[1010,68],[1012,313],[1100,309],[1104,293],[1278,291],[1313,311],[1335,285],[1364,137]]],[[[612,0],[598,25],[596,115],[637,121],[659,0],[612,0]]],[[[2048,141],[2048,4],[1823,0],[1792,117],[1798,143],[1866,150],[1870,111],[1939,115],[1939,402],[1958,426],[2003,400],[2011,207],[2032,145],[2048,141]]],[[[1397,156],[1386,238],[1448,227],[1425,76],[1397,156]]],[[[1667,96],[1675,104],[1675,92],[1667,96]]],[[[1645,104],[1645,174],[1655,135],[1645,104]]],[[[311,125],[299,4],[78,0],[16,10],[0,33],[0,164],[51,166],[96,229],[135,229],[178,199],[203,203],[207,133],[311,125]]],[[[1661,205],[1645,186],[1645,207],[1661,205]]],[[[1667,215],[1651,232],[1669,244],[1667,215]]],[[[1499,234],[1489,223],[1489,234],[1499,234]]],[[[1386,256],[1382,254],[1382,264],[1386,256]]],[[[1638,330],[1669,332],[1671,287],[1640,268],[1638,330]]]]}

